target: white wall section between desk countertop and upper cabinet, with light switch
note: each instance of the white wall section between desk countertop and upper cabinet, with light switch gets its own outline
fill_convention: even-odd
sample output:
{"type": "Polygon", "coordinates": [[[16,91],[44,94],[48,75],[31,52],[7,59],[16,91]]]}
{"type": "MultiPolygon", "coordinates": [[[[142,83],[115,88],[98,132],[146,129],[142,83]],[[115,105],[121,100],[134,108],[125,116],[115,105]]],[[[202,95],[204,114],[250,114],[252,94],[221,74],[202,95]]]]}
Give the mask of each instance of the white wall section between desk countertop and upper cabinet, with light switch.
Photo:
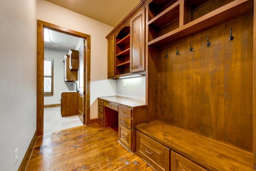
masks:
{"type": "Polygon", "coordinates": [[[146,100],[146,77],[117,80],[116,95],[146,100]]]}

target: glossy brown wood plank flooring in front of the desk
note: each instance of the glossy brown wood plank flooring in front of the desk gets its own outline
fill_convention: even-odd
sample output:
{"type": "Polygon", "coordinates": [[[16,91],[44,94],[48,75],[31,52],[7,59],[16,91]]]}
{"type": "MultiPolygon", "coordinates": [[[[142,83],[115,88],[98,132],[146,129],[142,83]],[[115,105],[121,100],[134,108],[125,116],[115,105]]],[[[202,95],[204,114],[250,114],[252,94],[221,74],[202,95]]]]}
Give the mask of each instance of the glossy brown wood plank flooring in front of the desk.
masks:
{"type": "Polygon", "coordinates": [[[154,171],[118,143],[118,128],[79,126],[38,137],[27,171],[154,171]]]}

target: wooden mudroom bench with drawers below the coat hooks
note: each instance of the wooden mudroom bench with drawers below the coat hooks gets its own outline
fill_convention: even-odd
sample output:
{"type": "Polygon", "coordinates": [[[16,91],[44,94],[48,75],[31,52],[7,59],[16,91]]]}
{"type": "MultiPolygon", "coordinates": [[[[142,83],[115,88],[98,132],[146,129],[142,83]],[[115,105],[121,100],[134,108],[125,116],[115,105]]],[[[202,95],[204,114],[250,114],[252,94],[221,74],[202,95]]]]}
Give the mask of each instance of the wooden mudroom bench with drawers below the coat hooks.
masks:
{"type": "Polygon", "coordinates": [[[138,155],[157,170],[253,170],[253,154],[226,143],[161,121],[137,125],[136,130],[138,155]]]}

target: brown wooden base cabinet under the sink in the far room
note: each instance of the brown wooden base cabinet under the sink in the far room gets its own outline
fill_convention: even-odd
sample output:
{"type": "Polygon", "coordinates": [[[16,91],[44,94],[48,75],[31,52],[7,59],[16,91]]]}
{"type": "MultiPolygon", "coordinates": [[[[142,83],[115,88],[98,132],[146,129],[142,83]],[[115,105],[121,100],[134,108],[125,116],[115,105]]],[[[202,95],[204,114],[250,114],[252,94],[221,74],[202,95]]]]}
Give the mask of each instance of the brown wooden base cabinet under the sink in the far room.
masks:
{"type": "Polygon", "coordinates": [[[62,117],[78,115],[78,92],[62,92],[60,110],[62,117]]]}

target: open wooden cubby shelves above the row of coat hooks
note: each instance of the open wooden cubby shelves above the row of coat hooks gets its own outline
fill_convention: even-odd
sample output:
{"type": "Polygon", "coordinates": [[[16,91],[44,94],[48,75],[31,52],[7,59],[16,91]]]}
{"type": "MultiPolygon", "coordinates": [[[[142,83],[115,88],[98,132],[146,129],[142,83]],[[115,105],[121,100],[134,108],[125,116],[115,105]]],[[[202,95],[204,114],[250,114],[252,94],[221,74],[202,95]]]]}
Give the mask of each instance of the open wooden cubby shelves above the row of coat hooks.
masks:
{"type": "MultiPolygon", "coordinates": [[[[148,46],[163,46],[253,12],[253,0],[172,2],[170,7],[165,6],[161,12],[154,12],[158,15],[149,20],[148,46]],[[177,6],[180,8],[178,9],[177,6]],[[180,9],[184,9],[184,14],[180,14],[180,9]],[[204,9],[203,12],[200,12],[200,9],[204,9]]],[[[156,2],[152,1],[151,3],[155,4],[156,2]]],[[[151,3],[149,6],[153,8],[151,3]]],[[[150,11],[154,11],[152,8],[150,11]]],[[[149,18],[152,16],[151,13],[149,12],[149,18]]]]}

